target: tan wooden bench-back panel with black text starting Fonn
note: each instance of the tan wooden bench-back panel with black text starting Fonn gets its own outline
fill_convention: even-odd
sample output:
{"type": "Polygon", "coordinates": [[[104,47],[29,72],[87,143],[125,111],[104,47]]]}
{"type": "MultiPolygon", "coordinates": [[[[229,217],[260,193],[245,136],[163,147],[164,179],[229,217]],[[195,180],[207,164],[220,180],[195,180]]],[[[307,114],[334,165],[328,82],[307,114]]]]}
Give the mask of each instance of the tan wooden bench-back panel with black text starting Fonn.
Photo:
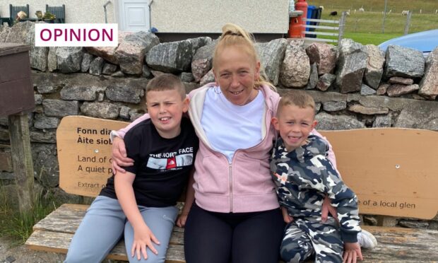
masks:
{"type": "Polygon", "coordinates": [[[67,116],[57,129],[59,187],[70,194],[95,197],[112,176],[109,133],[129,123],[67,116]]]}

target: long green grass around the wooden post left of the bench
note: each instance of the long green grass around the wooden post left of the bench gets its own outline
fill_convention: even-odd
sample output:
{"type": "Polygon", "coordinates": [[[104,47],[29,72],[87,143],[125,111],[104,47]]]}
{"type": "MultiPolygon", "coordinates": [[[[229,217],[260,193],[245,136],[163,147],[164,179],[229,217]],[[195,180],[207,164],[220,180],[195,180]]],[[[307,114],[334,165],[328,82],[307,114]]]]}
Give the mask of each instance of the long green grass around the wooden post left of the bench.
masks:
{"type": "MultiPolygon", "coordinates": [[[[1,190],[1,188],[0,188],[1,190]]],[[[2,200],[6,200],[4,192],[0,191],[2,200]]],[[[41,193],[35,195],[34,206],[28,213],[14,211],[6,201],[0,204],[0,235],[10,238],[13,245],[22,245],[32,233],[32,227],[56,209],[53,198],[42,197],[41,193]]]]}

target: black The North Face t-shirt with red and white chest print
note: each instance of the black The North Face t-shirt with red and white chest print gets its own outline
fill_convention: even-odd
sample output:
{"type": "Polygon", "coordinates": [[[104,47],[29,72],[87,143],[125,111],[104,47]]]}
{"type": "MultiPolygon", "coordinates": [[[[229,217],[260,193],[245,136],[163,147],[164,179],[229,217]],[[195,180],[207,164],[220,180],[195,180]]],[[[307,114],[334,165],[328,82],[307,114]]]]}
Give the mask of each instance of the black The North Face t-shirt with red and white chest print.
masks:
{"type": "MultiPolygon", "coordinates": [[[[183,117],[181,133],[165,139],[150,119],[146,119],[129,129],[124,142],[128,157],[134,159],[134,165],[124,169],[136,175],[132,187],[137,204],[149,207],[176,204],[187,185],[199,147],[190,120],[183,117]]],[[[114,175],[109,177],[100,195],[117,199],[114,175]]]]}

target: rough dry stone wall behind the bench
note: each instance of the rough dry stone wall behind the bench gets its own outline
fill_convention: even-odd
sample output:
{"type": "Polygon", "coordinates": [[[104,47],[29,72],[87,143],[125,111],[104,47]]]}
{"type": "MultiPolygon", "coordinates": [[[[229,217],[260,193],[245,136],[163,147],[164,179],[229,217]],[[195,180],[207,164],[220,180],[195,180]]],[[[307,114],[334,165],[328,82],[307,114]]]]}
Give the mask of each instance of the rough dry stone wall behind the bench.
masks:
{"type": "MultiPolygon", "coordinates": [[[[35,24],[0,27],[0,42],[31,46],[35,110],[29,127],[35,185],[59,199],[76,201],[58,188],[56,129],[62,117],[86,115],[132,121],[144,113],[144,89],[163,72],[179,76],[187,90],[214,81],[217,40],[198,37],[160,43],[151,33],[120,33],[118,47],[34,47],[35,24]]],[[[438,49],[425,58],[414,49],[342,40],[338,47],[302,40],[257,43],[265,76],[281,94],[306,89],[317,103],[318,129],[406,127],[438,131],[438,49]]],[[[1,73],[0,73],[1,74],[1,73]]],[[[0,118],[0,145],[8,144],[0,118]]],[[[13,196],[10,150],[0,147],[0,186],[13,196]]],[[[11,198],[13,200],[13,198],[11,198]]],[[[376,218],[365,216],[375,224],[376,218]]],[[[438,229],[438,219],[396,218],[406,227],[438,229]]]]}

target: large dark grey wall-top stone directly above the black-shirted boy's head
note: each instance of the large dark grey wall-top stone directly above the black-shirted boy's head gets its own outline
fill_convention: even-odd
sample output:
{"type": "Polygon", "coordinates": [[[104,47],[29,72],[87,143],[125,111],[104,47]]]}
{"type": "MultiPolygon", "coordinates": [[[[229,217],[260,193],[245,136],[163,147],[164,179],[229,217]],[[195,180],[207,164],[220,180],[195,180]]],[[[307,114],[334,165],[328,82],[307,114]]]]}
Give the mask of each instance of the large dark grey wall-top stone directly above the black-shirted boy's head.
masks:
{"type": "Polygon", "coordinates": [[[146,54],[146,64],[151,69],[167,73],[190,71],[193,49],[190,41],[161,43],[146,54]]]}

